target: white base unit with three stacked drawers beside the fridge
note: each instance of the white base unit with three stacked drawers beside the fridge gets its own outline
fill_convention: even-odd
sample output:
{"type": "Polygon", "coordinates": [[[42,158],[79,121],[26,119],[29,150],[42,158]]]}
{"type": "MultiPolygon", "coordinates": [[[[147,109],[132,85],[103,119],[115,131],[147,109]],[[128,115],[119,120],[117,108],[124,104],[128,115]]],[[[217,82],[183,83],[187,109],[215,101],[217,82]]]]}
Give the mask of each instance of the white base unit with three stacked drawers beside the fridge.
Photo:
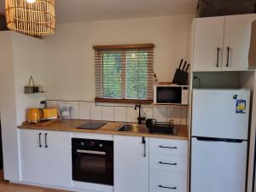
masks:
{"type": "Polygon", "coordinates": [[[188,141],[149,139],[149,192],[188,192],[188,141]]]}

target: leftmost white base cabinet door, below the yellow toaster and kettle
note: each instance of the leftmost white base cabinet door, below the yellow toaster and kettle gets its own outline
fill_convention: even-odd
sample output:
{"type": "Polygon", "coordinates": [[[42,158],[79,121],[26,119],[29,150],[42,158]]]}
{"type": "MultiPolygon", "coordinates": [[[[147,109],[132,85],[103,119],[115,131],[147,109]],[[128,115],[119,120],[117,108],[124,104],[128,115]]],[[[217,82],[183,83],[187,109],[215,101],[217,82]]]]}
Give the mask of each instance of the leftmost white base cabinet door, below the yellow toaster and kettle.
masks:
{"type": "Polygon", "coordinates": [[[44,148],[40,147],[39,137],[43,145],[43,132],[20,130],[20,172],[21,181],[44,183],[44,148]]]}

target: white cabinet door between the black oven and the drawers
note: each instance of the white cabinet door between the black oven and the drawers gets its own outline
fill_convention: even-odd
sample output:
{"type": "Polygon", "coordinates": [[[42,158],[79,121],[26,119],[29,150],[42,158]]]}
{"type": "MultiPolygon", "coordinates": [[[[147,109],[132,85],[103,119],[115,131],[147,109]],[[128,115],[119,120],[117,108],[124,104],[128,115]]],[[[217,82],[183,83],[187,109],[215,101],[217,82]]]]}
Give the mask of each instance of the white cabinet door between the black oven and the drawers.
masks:
{"type": "Polygon", "coordinates": [[[148,138],[114,136],[114,192],[148,192],[148,138]],[[145,153],[145,155],[144,155],[145,153]]]}

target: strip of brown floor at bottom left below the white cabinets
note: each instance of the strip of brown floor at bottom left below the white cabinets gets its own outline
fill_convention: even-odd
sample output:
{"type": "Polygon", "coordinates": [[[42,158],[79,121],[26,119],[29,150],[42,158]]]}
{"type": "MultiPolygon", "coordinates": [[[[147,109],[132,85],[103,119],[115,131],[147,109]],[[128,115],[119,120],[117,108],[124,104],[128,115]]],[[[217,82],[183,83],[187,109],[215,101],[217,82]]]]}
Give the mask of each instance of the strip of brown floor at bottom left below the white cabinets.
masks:
{"type": "MultiPolygon", "coordinates": [[[[0,170],[0,192],[64,192],[63,190],[44,189],[3,181],[3,171],[0,170]]],[[[67,191],[66,191],[67,192],[67,191]]]]}

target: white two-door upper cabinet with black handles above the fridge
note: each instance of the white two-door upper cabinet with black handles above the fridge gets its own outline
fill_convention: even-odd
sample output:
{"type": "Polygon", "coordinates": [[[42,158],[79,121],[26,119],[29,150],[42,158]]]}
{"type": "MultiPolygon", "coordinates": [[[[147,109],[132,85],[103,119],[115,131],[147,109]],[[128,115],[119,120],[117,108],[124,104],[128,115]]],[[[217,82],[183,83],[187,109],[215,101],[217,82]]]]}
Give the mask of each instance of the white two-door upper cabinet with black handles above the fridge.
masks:
{"type": "Polygon", "coordinates": [[[255,14],[195,19],[193,71],[246,71],[255,19],[255,14]]]}

